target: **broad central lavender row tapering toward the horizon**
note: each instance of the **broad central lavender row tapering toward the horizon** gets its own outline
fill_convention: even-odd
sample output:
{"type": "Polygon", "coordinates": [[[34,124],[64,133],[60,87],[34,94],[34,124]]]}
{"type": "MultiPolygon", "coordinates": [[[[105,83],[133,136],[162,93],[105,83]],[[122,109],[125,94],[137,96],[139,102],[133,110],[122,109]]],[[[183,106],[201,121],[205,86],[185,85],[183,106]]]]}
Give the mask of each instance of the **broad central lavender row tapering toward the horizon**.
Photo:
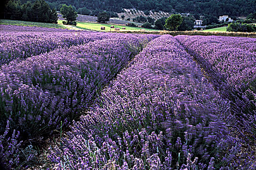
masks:
{"type": "Polygon", "coordinates": [[[184,48],[162,35],[73,121],[49,159],[58,170],[236,168],[240,144],[219,119],[229,107],[184,48]]]}

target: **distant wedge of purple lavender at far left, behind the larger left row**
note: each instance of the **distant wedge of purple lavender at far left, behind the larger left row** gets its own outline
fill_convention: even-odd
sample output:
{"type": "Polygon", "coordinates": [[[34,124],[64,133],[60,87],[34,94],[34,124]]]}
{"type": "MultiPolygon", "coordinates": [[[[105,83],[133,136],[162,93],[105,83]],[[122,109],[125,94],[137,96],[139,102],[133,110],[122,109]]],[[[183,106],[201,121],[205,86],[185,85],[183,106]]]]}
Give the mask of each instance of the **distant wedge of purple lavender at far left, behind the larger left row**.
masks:
{"type": "Polygon", "coordinates": [[[100,33],[1,33],[0,65],[108,37],[100,33]]]}

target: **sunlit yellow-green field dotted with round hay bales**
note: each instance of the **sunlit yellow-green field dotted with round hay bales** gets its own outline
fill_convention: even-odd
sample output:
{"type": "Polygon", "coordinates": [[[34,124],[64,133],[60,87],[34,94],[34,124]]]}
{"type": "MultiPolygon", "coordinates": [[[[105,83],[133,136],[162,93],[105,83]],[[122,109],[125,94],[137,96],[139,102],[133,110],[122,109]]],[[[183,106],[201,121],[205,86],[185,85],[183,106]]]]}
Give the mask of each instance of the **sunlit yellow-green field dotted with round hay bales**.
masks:
{"type": "MultiPolygon", "coordinates": [[[[62,24],[62,20],[58,20],[58,24],[62,24]]],[[[112,24],[101,24],[101,23],[90,23],[90,22],[77,22],[76,27],[80,29],[85,29],[85,30],[93,30],[93,31],[104,31],[101,30],[101,27],[105,27],[105,31],[110,31],[110,26],[112,24]]],[[[128,26],[123,26],[123,25],[114,25],[115,28],[120,28],[120,31],[138,31],[140,29],[145,29],[146,31],[156,31],[154,29],[146,29],[146,28],[141,28],[141,27],[128,27],[128,26]],[[123,30],[122,28],[125,27],[126,29],[123,30]]],[[[111,31],[114,31],[113,28],[111,28],[111,31]]]]}

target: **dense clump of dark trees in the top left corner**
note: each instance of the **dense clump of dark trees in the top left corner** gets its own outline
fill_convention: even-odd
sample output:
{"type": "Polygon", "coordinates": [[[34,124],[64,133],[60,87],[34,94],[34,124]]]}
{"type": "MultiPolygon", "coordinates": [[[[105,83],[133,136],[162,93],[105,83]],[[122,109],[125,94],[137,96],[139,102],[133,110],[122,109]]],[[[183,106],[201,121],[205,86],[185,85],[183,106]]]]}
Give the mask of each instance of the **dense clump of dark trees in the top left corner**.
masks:
{"type": "Polygon", "coordinates": [[[57,12],[51,9],[45,0],[26,1],[9,0],[1,15],[3,19],[57,23],[57,12]]]}

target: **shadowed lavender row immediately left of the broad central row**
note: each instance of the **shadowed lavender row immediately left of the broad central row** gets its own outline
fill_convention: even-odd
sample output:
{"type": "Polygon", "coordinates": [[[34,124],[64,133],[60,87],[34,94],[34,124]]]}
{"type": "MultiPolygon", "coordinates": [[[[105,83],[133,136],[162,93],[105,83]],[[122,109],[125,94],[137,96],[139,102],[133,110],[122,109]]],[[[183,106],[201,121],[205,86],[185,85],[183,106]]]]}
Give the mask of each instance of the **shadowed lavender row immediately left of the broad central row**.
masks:
{"type": "Polygon", "coordinates": [[[5,167],[27,161],[18,161],[18,141],[68,125],[91,105],[103,85],[158,35],[108,36],[1,67],[0,132],[4,135],[0,136],[0,160],[5,167]],[[18,134],[14,131],[10,136],[14,129],[18,134]]]}

